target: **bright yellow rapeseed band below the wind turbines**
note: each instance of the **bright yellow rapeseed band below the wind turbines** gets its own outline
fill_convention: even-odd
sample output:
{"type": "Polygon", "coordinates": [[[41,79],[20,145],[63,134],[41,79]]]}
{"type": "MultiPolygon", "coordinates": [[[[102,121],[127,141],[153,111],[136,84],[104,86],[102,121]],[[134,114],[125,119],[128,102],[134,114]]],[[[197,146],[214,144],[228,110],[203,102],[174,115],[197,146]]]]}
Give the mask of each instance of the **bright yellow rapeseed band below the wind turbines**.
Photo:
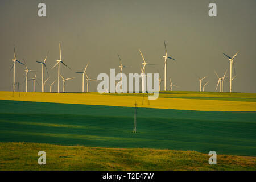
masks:
{"type": "Polygon", "coordinates": [[[225,101],[203,100],[189,98],[164,98],[150,100],[142,94],[98,94],[98,93],[41,93],[41,92],[0,92],[0,100],[53,102],[64,104],[86,104],[105,106],[133,107],[135,101],[138,107],[178,110],[201,110],[201,111],[256,111],[256,102],[248,101],[225,101]]]}

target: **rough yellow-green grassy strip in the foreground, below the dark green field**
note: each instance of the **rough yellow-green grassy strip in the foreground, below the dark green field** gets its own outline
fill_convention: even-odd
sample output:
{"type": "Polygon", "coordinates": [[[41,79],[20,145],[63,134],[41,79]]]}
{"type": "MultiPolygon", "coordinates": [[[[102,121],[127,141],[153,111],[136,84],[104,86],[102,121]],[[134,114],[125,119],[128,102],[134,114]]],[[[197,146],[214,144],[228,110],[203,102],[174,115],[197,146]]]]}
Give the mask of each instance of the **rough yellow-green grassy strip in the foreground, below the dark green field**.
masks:
{"type": "Polygon", "coordinates": [[[217,165],[209,165],[207,154],[142,148],[0,142],[0,156],[0,170],[256,170],[255,157],[217,155],[217,165]],[[46,165],[38,164],[41,150],[46,165]]]}

